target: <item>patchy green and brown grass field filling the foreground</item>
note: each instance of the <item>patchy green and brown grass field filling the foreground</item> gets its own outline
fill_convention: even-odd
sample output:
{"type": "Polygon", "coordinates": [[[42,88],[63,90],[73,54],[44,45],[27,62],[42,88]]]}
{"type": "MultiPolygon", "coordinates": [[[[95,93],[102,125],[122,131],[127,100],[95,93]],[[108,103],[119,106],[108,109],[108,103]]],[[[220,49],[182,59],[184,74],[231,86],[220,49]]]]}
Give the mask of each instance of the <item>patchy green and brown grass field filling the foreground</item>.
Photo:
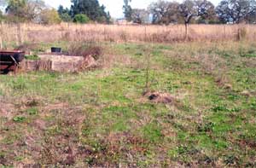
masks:
{"type": "Polygon", "coordinates": [[[0,76],[0,166],[256,166],[256,43],[101,45],[88,72],[0,76]]]}

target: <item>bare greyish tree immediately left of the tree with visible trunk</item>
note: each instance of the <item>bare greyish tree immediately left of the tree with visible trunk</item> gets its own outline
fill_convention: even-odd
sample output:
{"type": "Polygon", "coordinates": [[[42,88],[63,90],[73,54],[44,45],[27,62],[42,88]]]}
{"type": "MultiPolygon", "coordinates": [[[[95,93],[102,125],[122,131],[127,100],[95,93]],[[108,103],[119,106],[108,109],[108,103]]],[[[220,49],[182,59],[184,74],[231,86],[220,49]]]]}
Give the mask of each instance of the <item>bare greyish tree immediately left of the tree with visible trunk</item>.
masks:
{"type": "Polygon", "coordinates": [[[180,20],[178,12],[179,3],[176,2],[166,2],[158,1],[156,3],[151,3],[148,7],[150,13],[152,14],[153,24],[170,24],[177,23],[180,20]]]}

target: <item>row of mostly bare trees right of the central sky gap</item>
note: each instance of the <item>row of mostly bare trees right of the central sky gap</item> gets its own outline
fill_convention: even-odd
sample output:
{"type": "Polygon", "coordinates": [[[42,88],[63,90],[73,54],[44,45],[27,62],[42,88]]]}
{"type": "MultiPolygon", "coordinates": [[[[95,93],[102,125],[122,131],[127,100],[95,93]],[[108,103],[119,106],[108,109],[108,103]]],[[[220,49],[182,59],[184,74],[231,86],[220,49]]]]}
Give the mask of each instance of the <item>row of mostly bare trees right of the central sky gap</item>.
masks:
{"type": "Polygon", "coordinates": [[[131,9],[131,0],[124,3],[125,19],[137,24],[256,23],[255,0],[222,0],[216,7],[207,0],[184,0],[183,3],[159,0],[148,9],[131,9]]]}

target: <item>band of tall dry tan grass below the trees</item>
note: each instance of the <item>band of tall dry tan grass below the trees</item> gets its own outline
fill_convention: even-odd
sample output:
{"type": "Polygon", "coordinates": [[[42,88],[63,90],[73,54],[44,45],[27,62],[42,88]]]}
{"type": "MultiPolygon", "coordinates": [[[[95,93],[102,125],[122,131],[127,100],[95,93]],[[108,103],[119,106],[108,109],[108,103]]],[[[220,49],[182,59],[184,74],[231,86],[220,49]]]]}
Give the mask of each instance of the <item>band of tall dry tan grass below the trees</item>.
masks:
{"type": "MultiPolygon", "coordinates": [[[[117,26],[117,25],[75,25],[61,24],[43,26],[35,24],[2,24],[3,43],[54,42],[54,41],[110,41],[110,42],[182,42],[184,26],[117,26]],[[21,39],[20,39],[21,38],[21,39]]],[[[0,38],[0,39],[1,39],[0,38]]],[[[190,41],[255,40],[254,25],[190,25],[190,41]]]]}

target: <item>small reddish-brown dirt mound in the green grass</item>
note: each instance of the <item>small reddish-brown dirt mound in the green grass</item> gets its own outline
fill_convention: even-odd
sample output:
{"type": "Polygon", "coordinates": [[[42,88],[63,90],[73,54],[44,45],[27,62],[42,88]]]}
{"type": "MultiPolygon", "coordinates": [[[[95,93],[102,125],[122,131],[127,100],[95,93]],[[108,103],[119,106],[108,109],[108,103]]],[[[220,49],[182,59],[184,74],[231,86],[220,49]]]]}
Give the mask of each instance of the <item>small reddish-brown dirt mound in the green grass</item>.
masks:
{"type": "Polygon", "coordinates": [[[160,93],[160,92],[147,92],[143,94],[146,96],[149,101],[153,101],[156,103],[172,103],[174,102],[174,97],[171,96],[169,93],[160,93]]]}

